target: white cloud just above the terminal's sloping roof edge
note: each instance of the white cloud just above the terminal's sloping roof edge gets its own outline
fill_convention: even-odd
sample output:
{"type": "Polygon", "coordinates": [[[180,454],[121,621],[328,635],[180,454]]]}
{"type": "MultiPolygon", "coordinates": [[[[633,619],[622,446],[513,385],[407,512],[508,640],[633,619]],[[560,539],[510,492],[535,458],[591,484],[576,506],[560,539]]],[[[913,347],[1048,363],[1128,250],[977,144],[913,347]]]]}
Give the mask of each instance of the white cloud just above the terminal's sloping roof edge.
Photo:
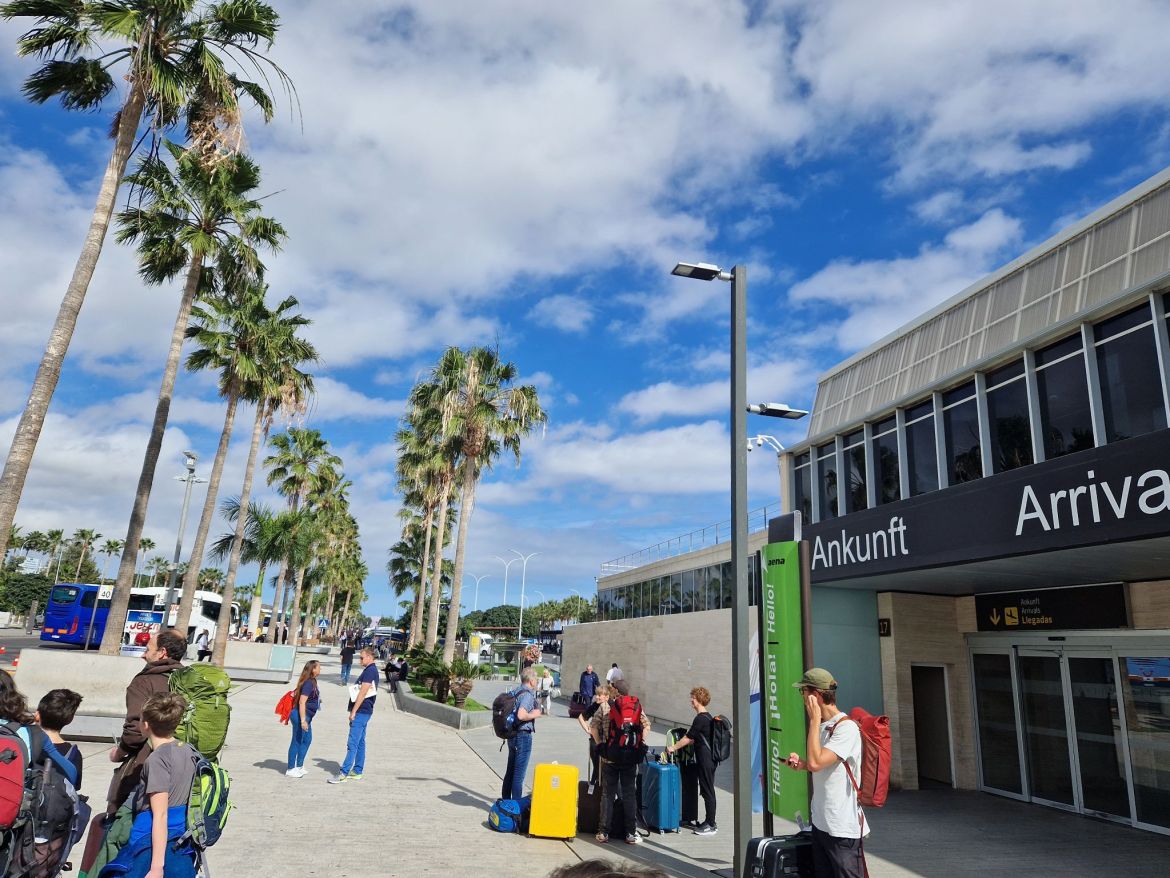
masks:
{"type": "Polygon", "coordinates": [[[1019,220],[998,208],[987,211],[914,256],[830,262],[793,284],[789,295],[794,302],[845,308],[848,316],[834,334],[841,349],[855,350],[978,280],[1020,235],[1019,220]]]}

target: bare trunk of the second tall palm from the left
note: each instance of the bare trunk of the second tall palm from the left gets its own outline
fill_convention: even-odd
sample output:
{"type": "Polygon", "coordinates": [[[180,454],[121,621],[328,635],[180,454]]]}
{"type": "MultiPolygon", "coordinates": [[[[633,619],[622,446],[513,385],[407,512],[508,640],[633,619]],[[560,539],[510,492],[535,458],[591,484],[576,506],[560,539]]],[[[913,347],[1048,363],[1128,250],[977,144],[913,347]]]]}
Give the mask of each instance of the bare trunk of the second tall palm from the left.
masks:
{"type": "MultiPolygon", "coordinates": [[[[151,425],[150,439],[146,443],[146,454],[143,458],[143,471],[138,476],[138,491],[135,494],[135,506],[130,512],[130,526],[126,528],[125,548],[122,550],[122,563],[118,565],[118,581],[110,602],[110,613],[106,617],[105,631],[102,633],[102,656],[117,656],[122,647],[122,630],[126,625],[126,610],[130,606],[130,589],[135,578],[135,556],[138,554],[138,542],[143,539],[143,527],[146,524],[146,507],[150,503],[150,491],[154,483],[154,469],[158,467],[158,455],[163,450],[163,433],[166,432],[166,420],[171,414],[171,398],[174,396],[174,379],[179,373],[179,359],[183,356],[183,342],[187,336],[187,322],[191,318],[191,306],[195,302],[199,290],[199,275],[202,270],[202,256],[193,255],[187,268],[187,282],[179,300],[179,313],[174,317],[174,329],[171,331],[171,350],[166,356],[166,369],[163,371],[163,386],[158,391],[158,404],[154,406],[154,423],[151,425]]],[[[170,608],[164,610],[170,615],[170,608]]],[[[180,631],[179,633],[185,633],[180,631]]]]}

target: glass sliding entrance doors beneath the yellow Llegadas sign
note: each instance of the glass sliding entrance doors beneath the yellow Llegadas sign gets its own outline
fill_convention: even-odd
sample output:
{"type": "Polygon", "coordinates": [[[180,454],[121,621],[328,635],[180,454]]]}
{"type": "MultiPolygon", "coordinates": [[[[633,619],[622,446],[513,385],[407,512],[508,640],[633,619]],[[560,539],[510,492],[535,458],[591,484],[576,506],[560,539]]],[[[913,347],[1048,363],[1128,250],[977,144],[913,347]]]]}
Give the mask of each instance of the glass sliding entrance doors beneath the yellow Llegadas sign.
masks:
{"type": "Polygon", "coordinates": [[[983,789],[1170,834],[1170,642],[1119,635],[971,638],[983,789]]]}

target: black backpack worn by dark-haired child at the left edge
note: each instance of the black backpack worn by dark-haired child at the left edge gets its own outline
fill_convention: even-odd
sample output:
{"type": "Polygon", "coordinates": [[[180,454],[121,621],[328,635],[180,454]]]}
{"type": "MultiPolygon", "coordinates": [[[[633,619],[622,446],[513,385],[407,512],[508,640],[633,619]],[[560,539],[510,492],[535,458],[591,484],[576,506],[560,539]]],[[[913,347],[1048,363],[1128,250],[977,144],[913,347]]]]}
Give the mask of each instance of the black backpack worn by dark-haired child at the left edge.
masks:
{"type": "Polygon", "coordinates": [[[89,825],[91,810],[66,776],[63,754],[49,752],[40,729],[30,734],[25,801],[5,842],[8,878],[55,878],[89,825]]]}

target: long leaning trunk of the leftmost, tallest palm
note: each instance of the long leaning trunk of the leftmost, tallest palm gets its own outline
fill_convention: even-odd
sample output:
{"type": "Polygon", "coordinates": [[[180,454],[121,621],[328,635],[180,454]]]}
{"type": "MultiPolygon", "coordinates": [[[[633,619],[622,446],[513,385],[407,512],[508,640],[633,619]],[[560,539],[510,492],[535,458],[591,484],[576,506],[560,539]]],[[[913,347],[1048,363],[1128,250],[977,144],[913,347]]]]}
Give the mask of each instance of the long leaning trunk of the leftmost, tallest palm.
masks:
{"type": "Polygon", "coordinates": [[[28,403],[21,412],[16,433],[12,438],[4,474],[0,475],[0,557],[8,549],[12,522],[16,517],[16,506],[25,489],[33,452],[36,451],[36,443],[44,426],[44,416],[49,411],[49,403],[61,379],[61,363],[69,350],[74,329],[77,327],[77,315],[81,314],[82,303],[85,301],[98,256],[102,255],[102,245],[105,242],[105,233],[110,228],[110,218],[113,215],[118,198],[118,186],[122,185],[126,163],[135,149],[144,104],[145,94],[140,87],[133,85],[118,116],[117,138],[113,142],[110,160],[105,165],[105,173],[102,174],[102,186],[97,192],[97,204],[94,205],[94,214],[89,220],[85,242],[82,245],[81,255],[77,256],[64,299],[61,300],[57,317],[53,322],[49,341],[44,345],[44,354],[41,355],[41,364],[36,369],[33,389],[28,395],[28,403]]]}

